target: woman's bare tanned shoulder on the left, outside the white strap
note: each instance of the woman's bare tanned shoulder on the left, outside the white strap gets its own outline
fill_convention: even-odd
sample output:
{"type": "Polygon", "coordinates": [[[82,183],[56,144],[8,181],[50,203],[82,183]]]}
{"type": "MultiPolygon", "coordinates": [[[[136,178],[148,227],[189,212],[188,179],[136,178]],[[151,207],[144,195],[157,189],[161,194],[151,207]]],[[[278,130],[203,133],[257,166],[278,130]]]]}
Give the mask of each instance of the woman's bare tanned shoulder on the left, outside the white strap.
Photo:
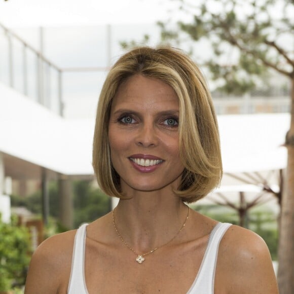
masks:
{"type": "Polygon", "coordinates": [[[46,239],[33,253],[25,293],[59,293],[67,286],[76,230],[46,239]]]}

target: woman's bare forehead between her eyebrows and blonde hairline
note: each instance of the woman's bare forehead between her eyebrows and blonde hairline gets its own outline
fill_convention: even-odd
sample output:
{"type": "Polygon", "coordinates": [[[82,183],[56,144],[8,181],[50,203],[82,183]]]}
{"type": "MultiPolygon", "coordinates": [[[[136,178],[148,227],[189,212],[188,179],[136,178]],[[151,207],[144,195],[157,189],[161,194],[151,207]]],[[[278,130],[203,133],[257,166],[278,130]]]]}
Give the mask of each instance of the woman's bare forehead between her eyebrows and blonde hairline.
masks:
{"type": "Polygon", "coordinates": [[[112,108],[122,104],[133,106],[178,105],[178,97],[171,86],[165,82],[134,75],[123,82],[113,99],[112,108]]]}

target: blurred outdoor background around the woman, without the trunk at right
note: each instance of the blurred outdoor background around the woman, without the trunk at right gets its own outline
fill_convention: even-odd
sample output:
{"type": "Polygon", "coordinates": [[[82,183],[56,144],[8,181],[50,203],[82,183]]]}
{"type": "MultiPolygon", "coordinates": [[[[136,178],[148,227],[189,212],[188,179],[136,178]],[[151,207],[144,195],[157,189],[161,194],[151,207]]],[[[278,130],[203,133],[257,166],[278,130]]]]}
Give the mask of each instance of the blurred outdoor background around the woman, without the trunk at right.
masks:
{"type": "Polygon", "coordinates": [[[0,291],[22,293],[45,238],[116,205],[94,179],[92,137],[107,72],[136,45],[175,46],[200,65],[224,178],[191,207],[261,235],[277,271],[293,15],[286,0],[0,0],[0,291]]]}

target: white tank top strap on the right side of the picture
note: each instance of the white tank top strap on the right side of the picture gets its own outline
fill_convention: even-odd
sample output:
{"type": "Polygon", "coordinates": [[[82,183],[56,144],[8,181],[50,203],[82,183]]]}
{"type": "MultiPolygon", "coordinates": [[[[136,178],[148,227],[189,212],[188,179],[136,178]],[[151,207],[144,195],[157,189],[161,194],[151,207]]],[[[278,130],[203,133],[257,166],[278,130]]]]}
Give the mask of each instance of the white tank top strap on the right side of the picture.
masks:
{"type": "Polygon", "coordinates": [[[189,294],[213,294],[214,276],[219,243],[231,224],[218,223],[210,233],[208,244],[197,277],[188,291],[189,294]]]}

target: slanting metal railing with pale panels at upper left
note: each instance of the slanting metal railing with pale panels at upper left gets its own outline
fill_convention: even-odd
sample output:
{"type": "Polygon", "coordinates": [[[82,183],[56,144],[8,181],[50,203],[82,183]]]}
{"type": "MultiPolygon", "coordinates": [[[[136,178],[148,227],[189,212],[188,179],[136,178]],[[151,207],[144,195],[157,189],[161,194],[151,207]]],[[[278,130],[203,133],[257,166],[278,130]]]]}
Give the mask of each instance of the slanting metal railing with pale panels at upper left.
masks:
{"type": "Polygon", "coordinates": [[[62,116],[62,69],[2,24],[0,81],[62,116]]]}

